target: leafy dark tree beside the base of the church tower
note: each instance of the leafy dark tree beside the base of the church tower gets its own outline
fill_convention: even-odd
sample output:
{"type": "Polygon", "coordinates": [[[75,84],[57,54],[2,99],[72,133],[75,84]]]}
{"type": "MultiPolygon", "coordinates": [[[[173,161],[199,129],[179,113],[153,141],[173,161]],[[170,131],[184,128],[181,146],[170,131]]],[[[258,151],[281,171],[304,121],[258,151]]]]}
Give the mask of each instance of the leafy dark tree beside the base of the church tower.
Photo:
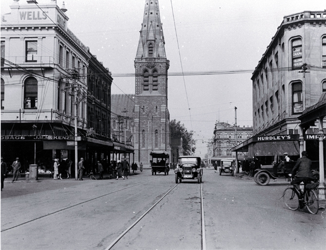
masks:
{"type": "Polygon", "coordinates": [[[196,150],[196,141],[192,138],[193,131],[188,132],[184,124],[175,119],[170,121],[171,139],[182,138],[182,149],[184,155],[191,155],[196,150]],[[192,142],[192,143],[191,143],[192,142]],[[192,150],[190,149],[192,147],[192,150]]]}

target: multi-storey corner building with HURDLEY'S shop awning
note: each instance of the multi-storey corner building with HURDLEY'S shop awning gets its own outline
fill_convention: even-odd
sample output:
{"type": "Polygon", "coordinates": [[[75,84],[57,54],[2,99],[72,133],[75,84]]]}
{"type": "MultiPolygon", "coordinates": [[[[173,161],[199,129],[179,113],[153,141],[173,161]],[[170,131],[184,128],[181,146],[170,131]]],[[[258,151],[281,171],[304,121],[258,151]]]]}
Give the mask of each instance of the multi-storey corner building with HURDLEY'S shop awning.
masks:
{"type": "Polygon", "coordinates": [[[307,150],[318,169],[318,133],[325,131],[305,128],[298,118],[326,91],[325,69],[326,11],[285,16],[252,74],[253,137],[232,150],[265,165],[284,152],[296,160],[307,150]]]}

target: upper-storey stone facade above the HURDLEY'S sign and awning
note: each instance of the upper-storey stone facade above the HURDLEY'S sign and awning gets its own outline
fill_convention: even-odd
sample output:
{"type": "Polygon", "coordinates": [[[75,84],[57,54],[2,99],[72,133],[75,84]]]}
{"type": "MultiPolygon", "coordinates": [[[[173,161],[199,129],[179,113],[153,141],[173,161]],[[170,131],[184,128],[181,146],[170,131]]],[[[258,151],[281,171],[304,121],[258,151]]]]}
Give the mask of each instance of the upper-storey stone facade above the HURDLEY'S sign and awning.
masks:
{"type": "Polygon", "coordinates": [[[285,16],[252,74],[253,134],[299,134],[305,108],[326,91],[326,13],[285,16]]]}

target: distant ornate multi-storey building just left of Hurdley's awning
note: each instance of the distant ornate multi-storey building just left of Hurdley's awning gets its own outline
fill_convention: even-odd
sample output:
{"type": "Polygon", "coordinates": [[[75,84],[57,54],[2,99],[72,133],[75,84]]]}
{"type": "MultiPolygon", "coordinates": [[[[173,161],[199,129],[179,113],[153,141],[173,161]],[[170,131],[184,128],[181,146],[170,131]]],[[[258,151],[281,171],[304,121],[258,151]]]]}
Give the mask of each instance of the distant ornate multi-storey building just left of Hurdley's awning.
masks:
{"type": "MultiPolygon", "coordinates": [[[[211,161],[220,161],[222,159],[235,160],[235,153],[232,153],[231,148],[252,136],[252,126],[238,126],[236,130],[235,135],[235,126],[223,122],[215,124],[211,161]]],[[[243,159],[244,157],[247,157],[247,153],[238,153],[238,159],[243,159]]]]}

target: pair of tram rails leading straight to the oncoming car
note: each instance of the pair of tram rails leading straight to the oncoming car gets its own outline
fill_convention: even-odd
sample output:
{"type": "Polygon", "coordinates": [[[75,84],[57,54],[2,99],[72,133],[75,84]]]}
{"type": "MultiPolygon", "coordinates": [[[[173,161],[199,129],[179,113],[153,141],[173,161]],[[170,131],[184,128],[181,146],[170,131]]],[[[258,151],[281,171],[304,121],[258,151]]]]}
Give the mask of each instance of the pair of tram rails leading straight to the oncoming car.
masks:
{"type": "MultiPolygon", "coordinates": [[[[149,208],[142,215],[140,215],[139,218],[136,221],[134,221],[134,223],[130,225],[127,229],[125,229],[117,238],[115,238],[115,240],[105,250],[111,250],[117,242],[119,242],[131,229],[133,229],[136,224],[138,224],[153,208],[155,208],[178,185],[180,185],[180,183],[173,186],[157,202],[155,202],[151,208],[149,208]]],[[[200,221],[201,221],[201,225],[200,225],[201,250],[206,250],[205,214],[204,214],[202,183],[200,183],[200,221]]]]}

